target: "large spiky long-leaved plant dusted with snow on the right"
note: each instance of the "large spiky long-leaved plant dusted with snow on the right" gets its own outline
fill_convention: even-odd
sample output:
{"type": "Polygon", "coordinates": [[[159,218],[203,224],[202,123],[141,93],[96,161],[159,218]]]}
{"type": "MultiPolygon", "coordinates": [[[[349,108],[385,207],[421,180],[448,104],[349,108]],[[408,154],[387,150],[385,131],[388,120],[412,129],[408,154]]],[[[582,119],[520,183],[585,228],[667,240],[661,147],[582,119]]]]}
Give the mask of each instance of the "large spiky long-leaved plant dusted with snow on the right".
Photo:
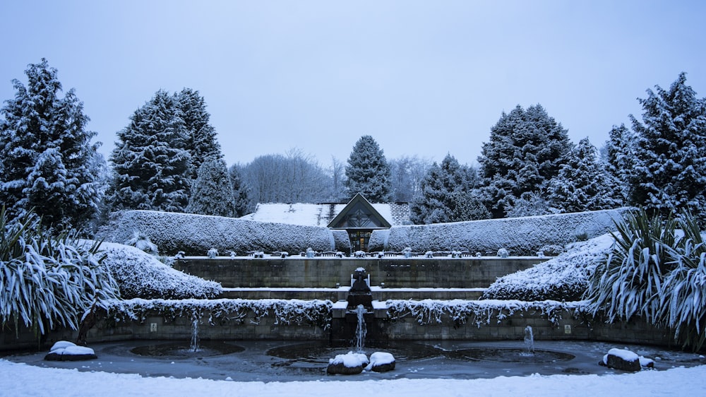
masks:
{"type": "Polygon", "coordinates": [[[596,268],[586,292],[594,315],[609,321],[642,316],[674,330],[684,347],[706,341],[706,245],[698,219],[678,220],[644,209],[617,223],[616,247],[596,268]],[[681,231],[680,231],[681,229],[681,231]]]}

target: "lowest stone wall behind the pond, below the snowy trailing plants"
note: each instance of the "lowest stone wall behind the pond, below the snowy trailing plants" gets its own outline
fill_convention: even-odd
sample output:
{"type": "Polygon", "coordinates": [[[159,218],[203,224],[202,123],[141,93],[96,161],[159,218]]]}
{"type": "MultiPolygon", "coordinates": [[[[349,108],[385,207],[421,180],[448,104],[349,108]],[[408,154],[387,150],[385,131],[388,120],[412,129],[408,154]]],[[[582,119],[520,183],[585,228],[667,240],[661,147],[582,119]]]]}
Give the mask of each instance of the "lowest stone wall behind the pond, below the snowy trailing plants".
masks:
{"type": "MultiPolygon", "coordinates": [[[[369,336],[388,340],[522,340],[526,326],[532,326],[535,340],[592,340],[620,343],[640,343],[648,345],[674,345],[671,333],[655,328],[644,321],[635,320],[621,324],[595,322],[587,324],[586,319],[563,311],[554,316],[552,322],[542,314],[515,312],[501,320],[492,318],[488,323],[477,326],[474,321],[458,324],[449,316],[442,316],[441,322],[420,324],[414,316],[397,319],[373,319],[369,316],[369,336]]],[[[201,319],[199,336],[201,340],[336,340],[336,330],[345,328],[342,321],[332,319],[332,324],[324,329],[315,324],[283,324],[274,314],[256,318],[248,314],[239,320],[228,320],[208,324],[208,318],[201,319]],[[338,321],[338,322],[337,322],[338,321]],[[333,332],[332,332],[333,331],[333,332]]],[[[349,328],[349,327],[348,327],[349,328]]],[[[76,331],[59,330],[49,333],[42,341],[46,349],[56,340],[76,340],[76,331]]],[[[191,319],[179,317],[166,319],[156,312],[144,317],[144,321],[127,321],[113,324],[99,321],[88,334],[88,343],[122,340],[189,340],[191,319]]],[[[0,351],[16,349],[37,349],[37,339],[26,328],[20,329],[19,338],[13,330],[4,328],[0,335],[0,351]]]]}

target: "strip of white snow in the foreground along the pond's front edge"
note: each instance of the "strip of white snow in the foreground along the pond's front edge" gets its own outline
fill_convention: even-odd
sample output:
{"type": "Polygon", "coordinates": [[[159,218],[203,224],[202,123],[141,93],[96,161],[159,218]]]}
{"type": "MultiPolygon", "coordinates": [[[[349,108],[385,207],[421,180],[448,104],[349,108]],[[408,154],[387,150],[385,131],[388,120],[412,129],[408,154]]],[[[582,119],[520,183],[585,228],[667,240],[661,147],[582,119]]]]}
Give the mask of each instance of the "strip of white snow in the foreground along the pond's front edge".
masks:
{"type": "Polygon", "coordinates": [[[0,360],[0,396],[705,396],[706,366],[616,375],[234,382],[47,369],[0,360]]]}

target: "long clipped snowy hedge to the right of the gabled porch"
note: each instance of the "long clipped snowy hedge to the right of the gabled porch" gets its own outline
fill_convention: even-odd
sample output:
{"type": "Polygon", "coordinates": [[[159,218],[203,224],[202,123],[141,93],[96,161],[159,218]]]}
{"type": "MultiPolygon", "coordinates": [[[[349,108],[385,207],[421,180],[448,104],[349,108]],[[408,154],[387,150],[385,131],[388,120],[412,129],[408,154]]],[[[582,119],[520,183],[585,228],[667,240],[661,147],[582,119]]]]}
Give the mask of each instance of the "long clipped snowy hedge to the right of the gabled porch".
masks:
{"type": "Polygon", "coordinates": [[[472,251],[494,254],[505,248],[510,256],[534,255],[542,247],[565,245],[615,230],[629,208],[589,211],[525,218],[472,220],[457,223],[395,226],[376,230],[370,238],[370,251],[472,251]]]}

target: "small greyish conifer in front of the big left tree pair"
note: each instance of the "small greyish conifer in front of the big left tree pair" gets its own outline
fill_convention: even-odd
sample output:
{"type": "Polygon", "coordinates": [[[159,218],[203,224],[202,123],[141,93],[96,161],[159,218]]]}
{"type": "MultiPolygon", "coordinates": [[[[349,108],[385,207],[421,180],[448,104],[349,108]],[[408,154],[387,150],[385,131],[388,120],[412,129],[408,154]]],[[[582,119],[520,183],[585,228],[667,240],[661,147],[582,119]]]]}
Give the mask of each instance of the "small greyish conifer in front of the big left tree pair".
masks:
{"type": "Polygon", "coordinates": [[[198,177],[191,186],[186,212],[201,215],[237,216],[235,195],[225,161],[211,158],[198,168],[198,177]]]}

